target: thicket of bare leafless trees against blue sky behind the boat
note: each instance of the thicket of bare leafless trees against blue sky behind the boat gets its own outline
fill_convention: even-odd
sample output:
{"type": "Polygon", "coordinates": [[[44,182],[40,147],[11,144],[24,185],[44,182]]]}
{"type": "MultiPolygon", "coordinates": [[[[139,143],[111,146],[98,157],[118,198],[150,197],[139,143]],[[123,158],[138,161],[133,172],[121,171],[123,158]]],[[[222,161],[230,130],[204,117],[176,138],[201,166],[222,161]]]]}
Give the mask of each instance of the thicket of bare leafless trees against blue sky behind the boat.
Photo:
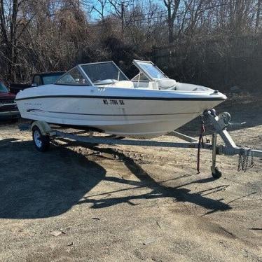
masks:
{"type": "Polygon", "coordinates": [[[234,57],[261,53],[260,35],[261,0],[0,0],[0,76],[26,81],[36,71],[130,57],[163,60],[185,78],[218,60],[228,76],[246,67],[234,57]]]}

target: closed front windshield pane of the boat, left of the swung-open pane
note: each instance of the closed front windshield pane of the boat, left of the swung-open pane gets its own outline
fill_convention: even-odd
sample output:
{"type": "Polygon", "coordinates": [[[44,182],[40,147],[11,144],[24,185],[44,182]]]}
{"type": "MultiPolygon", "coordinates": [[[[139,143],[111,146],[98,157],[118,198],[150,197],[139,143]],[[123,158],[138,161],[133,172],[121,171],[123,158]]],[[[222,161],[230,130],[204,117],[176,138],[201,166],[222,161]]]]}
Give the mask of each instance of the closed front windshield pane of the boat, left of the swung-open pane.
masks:
{"type": "Polygon", "coordinates": [[[82,64],[81,67],[94,84],[107,83],[104,80],[129,80],[113,62],[82,64]]]}

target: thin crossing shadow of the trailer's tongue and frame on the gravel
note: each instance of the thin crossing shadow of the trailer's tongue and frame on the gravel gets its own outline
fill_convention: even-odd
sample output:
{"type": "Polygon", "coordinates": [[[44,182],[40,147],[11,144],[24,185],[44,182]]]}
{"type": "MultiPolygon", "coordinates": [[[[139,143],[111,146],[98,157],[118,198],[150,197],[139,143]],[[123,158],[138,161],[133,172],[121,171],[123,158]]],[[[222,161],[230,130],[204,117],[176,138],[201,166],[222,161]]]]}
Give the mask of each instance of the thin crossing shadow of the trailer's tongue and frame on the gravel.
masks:
{"type": "MultiPolygon", "coordinates": [[[[178,187],[163,186],[162,183],[165,181],[162,181],[162,183],[155,181],[153,178],[149,176],[149,174],[147,174],[142,169],[142,167],[137,165],[137,163],[135,163],[135,161],[132,158],[125,156],[125,154],[115,151],[113,149],[101,149],[97,147],[95,148],[92,147],[92,149],[96,151],[104,152],[104,153],[111,153],[112,155],[117,155],[118,158],[123,160],[123,163],[126,165],[126,167],[133,174],[135,174],[135,176],[140,181],[129,181],[126,179],[120,179],[116,177],[106,177],[105,178],[106,180],[114,181],[116,183],[129,184],[129,185],[135,186],[135,188],[143,188],[143,187],[151,188],[152,191],[151,193],[145,193],[142,195],[128,195],[128,196],[124,196],[120,198],[102,198],[101,199],[102,195],[110,195],[111,193],[130,190],[130,189],[122,189],[119,191],[113,191],[113,192],[111,191],[111,192],[106,192],[106,193],[102,193],[99,195],[90,195],[84,198],[84,200],[81,200],[79,204],[87,202],[87,203],[92,203],[92,208],[102,208],[102,207],[109,207],[112,205],[117,205],[122,202],[127,202],[130,205],[134,205],[132,204],[132,202],[130,202],[130,200],[135,200],[135,199],[174,198],[175,202],[191,202],[195,205],[200,205],[201,207],[205,207],[205,209],[211,210],[207,212],[207,214],[213,213],[216,211],[225,211],[225,210],[231,209],[230,205],[223,203],[221,200],[213,200],[211,198],[205,197],[205,195],[208,195],[212,192],[214,193],[214,192],[223,190],[228,185],[217,186],[215,188],[209,188],[206,191],[198,192],[198,193],[191,193],[191,191],[189,191],[188,189],[181,188],[188,184],[202,184],[202,183],[214,181],[212,177],[207,178],[207,179],[199,179],[196,181],[192,181],[191,183],[184,184],[178,187]],[[95,199],[96,196],[99,198],[95,199]]],[[[133,189],[134,188],[132,188],[132,190],[133,189]]]]}

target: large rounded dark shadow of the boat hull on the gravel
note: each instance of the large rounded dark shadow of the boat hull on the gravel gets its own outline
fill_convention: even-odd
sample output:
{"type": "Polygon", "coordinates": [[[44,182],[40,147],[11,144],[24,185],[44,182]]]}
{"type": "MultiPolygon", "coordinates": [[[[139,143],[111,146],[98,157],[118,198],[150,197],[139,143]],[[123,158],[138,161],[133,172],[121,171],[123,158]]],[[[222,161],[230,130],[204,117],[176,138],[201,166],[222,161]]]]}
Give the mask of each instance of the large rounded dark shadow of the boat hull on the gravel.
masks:
{"type": "Polygon", "coordinates": [[[0,141],[0,218],[58,216],[106,175],[100,165],[67,148],[40,153],[33,142],[0,141]]]}

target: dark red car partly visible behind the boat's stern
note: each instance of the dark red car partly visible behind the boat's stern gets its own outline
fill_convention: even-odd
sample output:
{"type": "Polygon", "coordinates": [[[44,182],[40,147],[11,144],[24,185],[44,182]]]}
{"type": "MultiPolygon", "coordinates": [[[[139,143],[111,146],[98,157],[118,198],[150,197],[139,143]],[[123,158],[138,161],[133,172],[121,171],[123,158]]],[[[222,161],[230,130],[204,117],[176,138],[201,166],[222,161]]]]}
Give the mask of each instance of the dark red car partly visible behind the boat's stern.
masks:
{"type": "Polygon", "coordinates": [[[4,83],[0,82],[0,120],[19,118],[18,106],[15,104],[15,95],[8,91],[4,83]]]}

